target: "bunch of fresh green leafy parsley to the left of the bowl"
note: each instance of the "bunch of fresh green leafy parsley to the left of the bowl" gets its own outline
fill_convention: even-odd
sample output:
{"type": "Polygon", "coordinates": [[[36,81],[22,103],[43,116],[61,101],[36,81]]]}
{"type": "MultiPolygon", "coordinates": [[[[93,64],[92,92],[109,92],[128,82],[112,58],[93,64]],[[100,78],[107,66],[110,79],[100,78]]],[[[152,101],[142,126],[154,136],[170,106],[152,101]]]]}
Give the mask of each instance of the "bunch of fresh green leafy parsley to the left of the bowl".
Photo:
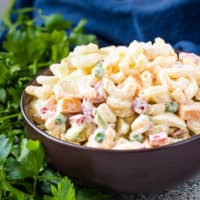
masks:
{"type": "Polygon", "coordinates": [[[67,177],[48,167],[39,141],[28,140],[19,110],[20,96],[40,69],[66,57],[73,46],[96,42],[85,34],[86,20],[76,27],[59,14],[45,16],[40,9],[13,10],[4,14],[5,40],[0,42],[0,199],[83,200],[108,199],[99,192],[77,188],[67,177]],[[37,13],[34,19],[29,12],[37,13]],[[17,15],[16,21],[10,18],[17,15]],[[40,20],[43,26],[37,26],[40,20]]]}

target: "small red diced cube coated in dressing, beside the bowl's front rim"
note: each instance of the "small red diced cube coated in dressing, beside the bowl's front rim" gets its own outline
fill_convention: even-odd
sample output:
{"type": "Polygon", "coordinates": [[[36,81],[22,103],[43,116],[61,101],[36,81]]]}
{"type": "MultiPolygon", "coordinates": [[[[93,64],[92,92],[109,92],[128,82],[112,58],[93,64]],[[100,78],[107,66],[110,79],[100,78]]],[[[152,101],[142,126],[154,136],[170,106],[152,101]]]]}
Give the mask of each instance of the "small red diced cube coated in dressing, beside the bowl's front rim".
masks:
{"type": "Polygon", "coordinates": [[[167,144],[168,136],[166,132],[154,133],[149,135],[149,142],[152,146],[162,146],[167,144]]]}

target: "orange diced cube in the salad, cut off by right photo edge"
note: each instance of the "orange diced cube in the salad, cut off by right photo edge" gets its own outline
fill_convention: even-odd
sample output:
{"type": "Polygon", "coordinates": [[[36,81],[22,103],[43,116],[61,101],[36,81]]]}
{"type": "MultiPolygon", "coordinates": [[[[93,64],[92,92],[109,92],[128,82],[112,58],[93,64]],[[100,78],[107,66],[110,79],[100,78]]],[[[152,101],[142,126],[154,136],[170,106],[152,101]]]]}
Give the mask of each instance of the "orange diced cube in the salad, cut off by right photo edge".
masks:
{"type": "Polygon", "coordinates": [[[180,106],[180,117],[183,120],[199,120],[200,119],[200,103],[188,103],[180,106]]]}

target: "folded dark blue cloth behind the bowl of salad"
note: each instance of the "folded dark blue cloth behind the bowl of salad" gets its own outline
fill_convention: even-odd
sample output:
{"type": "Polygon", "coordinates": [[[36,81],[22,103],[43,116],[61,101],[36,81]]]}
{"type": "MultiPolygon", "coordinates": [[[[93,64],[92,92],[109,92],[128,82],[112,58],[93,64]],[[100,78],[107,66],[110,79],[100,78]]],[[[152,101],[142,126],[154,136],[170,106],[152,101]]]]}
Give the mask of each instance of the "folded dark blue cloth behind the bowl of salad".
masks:
{"type": "Polygon", "coordinates": [[[149,41],[162,37],[175,48],[200,54],[199,0],[17,0],[16,8],[33,6],[44,14],[60,13],[101,45],[149,41]]]}

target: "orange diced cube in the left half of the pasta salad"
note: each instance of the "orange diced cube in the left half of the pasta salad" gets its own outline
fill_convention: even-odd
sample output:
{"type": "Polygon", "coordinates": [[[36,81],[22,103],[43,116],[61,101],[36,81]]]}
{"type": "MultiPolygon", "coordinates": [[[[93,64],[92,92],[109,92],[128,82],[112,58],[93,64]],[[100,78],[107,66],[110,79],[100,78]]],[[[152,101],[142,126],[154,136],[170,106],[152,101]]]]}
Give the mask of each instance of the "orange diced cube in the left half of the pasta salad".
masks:
{"type": "Polygon", "coordinates": [[[58,111],[63,114],[81,112],[81,101],[78,98],[65,98],[58,101],[58,111]]]}

